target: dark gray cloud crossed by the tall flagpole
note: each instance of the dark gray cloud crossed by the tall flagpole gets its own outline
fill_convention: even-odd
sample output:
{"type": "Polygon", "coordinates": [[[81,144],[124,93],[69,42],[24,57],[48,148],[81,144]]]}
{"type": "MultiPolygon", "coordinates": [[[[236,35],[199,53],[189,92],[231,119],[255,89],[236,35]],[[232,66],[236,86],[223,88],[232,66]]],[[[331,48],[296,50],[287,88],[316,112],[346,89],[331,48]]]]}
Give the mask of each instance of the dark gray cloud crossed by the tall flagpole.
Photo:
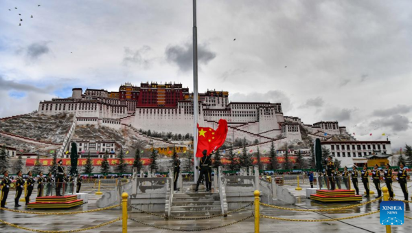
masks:
{"type": "MultiPolygon", "coordinates": [[[[183,45],[169,45],[166,47],[166,60],[176,64],[181,71],[189,71],[193,67],[193,46],[192,43],[183,45]]],[[[198,64],[207,65],[209,61],[216,58],[216,53],[209,49],[207,43],[198,45],[198,64]]]]}

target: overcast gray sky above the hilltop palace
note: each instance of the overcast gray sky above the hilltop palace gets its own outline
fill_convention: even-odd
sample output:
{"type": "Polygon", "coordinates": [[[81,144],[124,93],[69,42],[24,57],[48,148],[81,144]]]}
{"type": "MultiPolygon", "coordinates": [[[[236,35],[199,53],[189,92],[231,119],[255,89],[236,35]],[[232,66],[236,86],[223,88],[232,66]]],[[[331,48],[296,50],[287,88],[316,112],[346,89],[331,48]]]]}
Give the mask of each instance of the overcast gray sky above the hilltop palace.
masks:
{"type": "MultiPolygon", "coordinates": [[[[409,0],[198,0],[199,91],[282,102],[306,124],[338,120],[358,140],[386,133],[394,149],[412,144],[410,9],[409,0]]],[[[191,0],[1,0],[0,12],[0,117],[73,87],[193,89],[191,0]]]]}

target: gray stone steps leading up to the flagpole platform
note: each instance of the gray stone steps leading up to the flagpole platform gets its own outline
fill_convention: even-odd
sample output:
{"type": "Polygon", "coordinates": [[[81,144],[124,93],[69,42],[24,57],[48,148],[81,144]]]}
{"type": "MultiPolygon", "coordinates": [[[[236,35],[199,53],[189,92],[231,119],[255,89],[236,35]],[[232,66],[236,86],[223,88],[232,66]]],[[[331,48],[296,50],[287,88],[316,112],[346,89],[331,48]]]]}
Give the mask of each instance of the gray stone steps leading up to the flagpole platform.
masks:
{"type": "Polygon", "coordinates": [[[175,193],[170,216],[212,216],[222,214],[220,197],[212,192],[175,193]]]}

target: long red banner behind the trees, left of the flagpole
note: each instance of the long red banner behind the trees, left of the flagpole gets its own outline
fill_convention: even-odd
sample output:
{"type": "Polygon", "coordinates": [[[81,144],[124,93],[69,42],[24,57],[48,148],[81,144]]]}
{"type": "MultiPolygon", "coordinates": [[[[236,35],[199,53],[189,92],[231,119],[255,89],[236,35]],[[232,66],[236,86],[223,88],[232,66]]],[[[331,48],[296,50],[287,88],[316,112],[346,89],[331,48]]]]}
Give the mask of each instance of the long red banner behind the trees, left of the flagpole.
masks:
{"type": "MultiPolygon", "coordinates": [[[[60,159],[57,159],[59,161],[60,159]]],[[[63,162],[63,166],[71,166],[71,161],[70,159],[61,159],[63,162]]],[[[150,159],[148,158],[143,158],[140,159],[143,165],[149,165],[150,164],[150,159]]],[[[116,166],[119,163],[119,159],[107,159],[108,164],[110,166],[116,166]]],[[[127,165],[133,165],[133,162],[135,159],[124,159],[124,162],[127,165]]],[[[53,159],[39,159],[39,162],[41,166],[52,166],[53,165],[53,159]]],[[[86,165],[87,159],[78,159],[78,166],[84,166],[86,165]]],[[[91,159],[91,162],[93,163],[93,166],[102,166],[103,159],[91,159]]],[[[26,159],[26,166],[34,166],[36,163],[36,159],[26,159]]]]}

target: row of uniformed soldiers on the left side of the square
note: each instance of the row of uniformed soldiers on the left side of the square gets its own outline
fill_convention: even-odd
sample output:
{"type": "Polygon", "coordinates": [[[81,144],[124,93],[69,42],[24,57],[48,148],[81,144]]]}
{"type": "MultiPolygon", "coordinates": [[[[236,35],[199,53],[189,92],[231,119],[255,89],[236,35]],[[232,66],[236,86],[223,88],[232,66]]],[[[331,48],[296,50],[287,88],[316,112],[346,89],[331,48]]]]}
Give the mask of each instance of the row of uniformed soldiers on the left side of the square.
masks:
{"type": "MultiPolygon", "coordinates": [[[[44,176],[42,172],[38,174],[38,177],[33,177],[32,171],[27,173],[27,177],[23,179],[22,172],[19,171],[17,173],[16,182],[14,183],[14,187],[16,187],[16,195],[14,196],[14,207],[20,207],[19,199],[25,190],[24,186],[26,186],[25,190],[25,205],[30,201],[30,196],[34,190],[34,185],[37,183],[37,197],[43,197],[44,190],[46,188],[45,197],[52,195],[53,187],[56,187],[56,196],[62,197],[61,190],[63,188],[63,194],[67,193],[67,188],[69,187],[69,193],[73,193],[74,188],[74,179],[71,176],[67,176],[65,173],[65,168],[62,166],[62,161],[58,162],[58,171],[56,175],[57,179],[55,179],[52,173],[48,173],[47,176],[44,176]]],[[[1,208],[5,207],[5,201],[8,197],[8,192],[10,190],[10,186],[12,185],[12,180],[9,177],[9,173],[7,170],[3,172],[3,177],[0,180],[0,187],[1,187],[1,208]]],[[[76,183],[76,193],[80,192],[80,188],[82,186],[82,177],[80,174],[78,175],[77,183],[76,183]]]]}

